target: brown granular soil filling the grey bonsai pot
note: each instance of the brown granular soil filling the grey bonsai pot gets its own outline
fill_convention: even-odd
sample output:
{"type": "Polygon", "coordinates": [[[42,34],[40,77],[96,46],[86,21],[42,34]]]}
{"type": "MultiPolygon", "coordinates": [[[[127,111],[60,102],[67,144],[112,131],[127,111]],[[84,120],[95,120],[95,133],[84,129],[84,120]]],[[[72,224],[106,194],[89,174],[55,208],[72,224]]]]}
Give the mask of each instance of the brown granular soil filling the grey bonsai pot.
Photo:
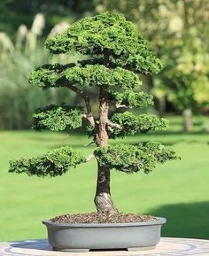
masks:
{"type": "Polygon", "coordinates": [[[128,223],[156,220],[158,218],[155,216],[136,213],[73,213],[50,219],[55,223],[128,223]]]}

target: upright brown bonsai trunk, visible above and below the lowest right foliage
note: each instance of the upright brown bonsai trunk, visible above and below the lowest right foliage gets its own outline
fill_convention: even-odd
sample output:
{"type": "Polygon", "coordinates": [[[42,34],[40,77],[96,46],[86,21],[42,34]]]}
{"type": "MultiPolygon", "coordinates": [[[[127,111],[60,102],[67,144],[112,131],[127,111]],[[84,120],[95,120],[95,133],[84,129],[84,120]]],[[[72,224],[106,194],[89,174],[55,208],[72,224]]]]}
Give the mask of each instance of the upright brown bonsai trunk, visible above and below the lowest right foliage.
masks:
{"type": "MultiPolygon", "coordinates": [[[[99,124],[97,128],[97,146],[102,147],[108,144],[106,123],[108,121],[108,101],[106,88],[100,89],[99,94],[99,124]]],[[[110,168],[97,164],[97,190],[95,205],[98,213],[118,213],[113,206],[110,192],[110,168]]]]}

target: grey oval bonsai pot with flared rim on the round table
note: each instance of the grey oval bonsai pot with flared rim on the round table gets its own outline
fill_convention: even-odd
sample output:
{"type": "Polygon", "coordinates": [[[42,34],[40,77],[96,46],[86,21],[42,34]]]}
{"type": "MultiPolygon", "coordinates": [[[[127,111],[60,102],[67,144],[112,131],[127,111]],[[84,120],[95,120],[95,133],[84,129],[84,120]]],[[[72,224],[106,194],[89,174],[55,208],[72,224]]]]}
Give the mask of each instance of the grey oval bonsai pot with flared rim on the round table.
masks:
{"type": "Polygon", "coordinates": [[[159,243],[165,218],[131,223],[72,223],[43,221],[54,251],[89,252],[89,250],[153,249],[159,243]]]}

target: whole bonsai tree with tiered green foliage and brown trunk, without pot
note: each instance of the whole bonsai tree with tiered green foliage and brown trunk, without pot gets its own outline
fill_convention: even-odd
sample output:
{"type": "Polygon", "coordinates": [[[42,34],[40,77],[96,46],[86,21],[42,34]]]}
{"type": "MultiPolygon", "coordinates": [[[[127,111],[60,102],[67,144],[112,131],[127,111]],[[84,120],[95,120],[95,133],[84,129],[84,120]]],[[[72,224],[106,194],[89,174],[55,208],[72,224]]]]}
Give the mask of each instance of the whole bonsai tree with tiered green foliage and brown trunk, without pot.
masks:
{"type": "Polygon", "coordinates": [[[112,169],[148,174],[157,163],[176,159],[174,151],[163,144],[110,144],[109,141],[167,127],[167,121],[154,114],[135,115],[130,111],[153,105],[153,97],[139,90],[142,85],[139,74],[159,73],[161,62],[133,23],[108,12],[81,19],[64,33],[48,38],[45,46],[53,54],[79,53],[80,61],[40,66],[30,74],[29,81],[42,89],[66,87],[83,99],[85,107],[64,103],[38,109],[33,116],[34,128],[68,132],[80,128],[87,123],[83,120],[87,120],[85,129],[97,147],[87,158],[66,145],[41,157],[12,160],[10,172],[54,177],[95,158],[97,212],[118,213],[111,198],[112,169]],[[91,111],[88,87],[98,90],[97,118],[91,111]]]}

